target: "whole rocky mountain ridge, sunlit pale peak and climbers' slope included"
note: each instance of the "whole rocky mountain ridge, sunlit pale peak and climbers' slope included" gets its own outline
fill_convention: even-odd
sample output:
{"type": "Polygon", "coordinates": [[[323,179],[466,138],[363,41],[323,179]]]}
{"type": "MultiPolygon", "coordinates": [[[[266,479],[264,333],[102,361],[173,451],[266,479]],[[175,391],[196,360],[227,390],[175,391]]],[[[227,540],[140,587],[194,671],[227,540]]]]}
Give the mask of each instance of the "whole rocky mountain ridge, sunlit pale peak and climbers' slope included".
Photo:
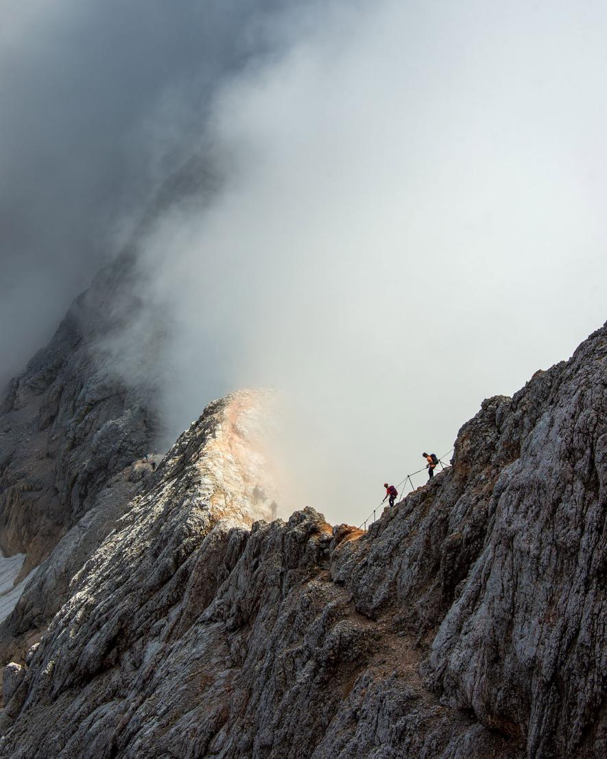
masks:
{"type": "Polygon", "coordinates": [[[2,548],[39,566],[0,629],[0,756],[607,756],[606,359],[603,326],[484,401],[366,532],[254,502],[263,395],[153,468],[143,405],[33,364],[5,402],[2,548]]]}

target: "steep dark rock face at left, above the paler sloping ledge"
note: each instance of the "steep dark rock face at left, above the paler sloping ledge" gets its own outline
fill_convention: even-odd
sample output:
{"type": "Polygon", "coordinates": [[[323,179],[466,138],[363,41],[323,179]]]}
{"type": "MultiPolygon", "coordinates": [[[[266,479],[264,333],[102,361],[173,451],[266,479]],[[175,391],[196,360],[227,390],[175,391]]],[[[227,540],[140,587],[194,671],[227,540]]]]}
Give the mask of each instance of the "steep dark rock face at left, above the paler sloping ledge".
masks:
{"type": "Polygon", "coordinates": [[[0,548],[26,553],[28,571],[152,446],[153,388],[125,383],[103,350],[133,316],[133,266],[124,254],[99,273],[2,402],[0,548]]]}

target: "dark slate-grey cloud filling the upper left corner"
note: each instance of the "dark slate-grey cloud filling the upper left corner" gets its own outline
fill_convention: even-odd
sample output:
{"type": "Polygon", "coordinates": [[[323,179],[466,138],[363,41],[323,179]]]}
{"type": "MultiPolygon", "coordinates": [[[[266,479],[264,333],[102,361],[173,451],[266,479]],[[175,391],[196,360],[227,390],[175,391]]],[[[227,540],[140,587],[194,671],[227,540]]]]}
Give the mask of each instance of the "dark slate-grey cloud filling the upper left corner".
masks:
{"type": "Polygon", "coordinates": [[[193,151],[278,0],[0,3],[0,383],[193,151]]]}

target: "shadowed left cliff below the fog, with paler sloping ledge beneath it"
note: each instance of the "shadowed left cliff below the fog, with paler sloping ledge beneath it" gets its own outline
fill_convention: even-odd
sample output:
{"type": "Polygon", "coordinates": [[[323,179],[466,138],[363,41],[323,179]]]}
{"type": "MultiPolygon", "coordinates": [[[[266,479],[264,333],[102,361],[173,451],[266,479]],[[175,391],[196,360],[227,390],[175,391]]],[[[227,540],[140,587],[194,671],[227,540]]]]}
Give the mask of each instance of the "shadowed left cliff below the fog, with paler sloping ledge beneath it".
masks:
{"type": "Polygon", "coordinates": [[[125,382],[128,361],[123,359],[119,371],[107,347],[126,320],[137,318],[134,262],[127,251],[99,273],[0,404],[0,550],[26,555],[17,579],[74,528],[67,546],[64,540],[63,558],[58,551],[52,566],[36,573],[27,609],[7,622],[10,635],[0,628],[5,655],[7,644],[11,650],[19,636],[33,639],[52,618],[71,576],[99,546],[149,468],[134,464],[153,449],[158,433],[154,374],[142,361],[145,351],[126,347],[137,379],[125,382]],[[115,488],[106,493],[110,480],[115,488]]]}

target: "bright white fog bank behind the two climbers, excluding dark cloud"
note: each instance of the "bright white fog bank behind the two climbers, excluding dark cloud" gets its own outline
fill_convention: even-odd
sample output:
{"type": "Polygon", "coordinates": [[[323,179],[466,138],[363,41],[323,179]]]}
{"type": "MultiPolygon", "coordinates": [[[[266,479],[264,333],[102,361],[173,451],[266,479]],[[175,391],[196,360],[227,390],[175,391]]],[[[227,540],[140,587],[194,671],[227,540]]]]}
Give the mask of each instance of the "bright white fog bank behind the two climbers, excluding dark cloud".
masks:
{"type": "Polygon", "coordinates": [[[605,320],[607,6],[301,2],[255,20],[263,55],[212,79],[197,129],[163,74],[159,131],[200,137],[225,174],[143,246],[146,299],[175,325],[165,412],[176,433],[215,395],[274,386],[283,513],[358,523],[483,398],[605,320]]]}

